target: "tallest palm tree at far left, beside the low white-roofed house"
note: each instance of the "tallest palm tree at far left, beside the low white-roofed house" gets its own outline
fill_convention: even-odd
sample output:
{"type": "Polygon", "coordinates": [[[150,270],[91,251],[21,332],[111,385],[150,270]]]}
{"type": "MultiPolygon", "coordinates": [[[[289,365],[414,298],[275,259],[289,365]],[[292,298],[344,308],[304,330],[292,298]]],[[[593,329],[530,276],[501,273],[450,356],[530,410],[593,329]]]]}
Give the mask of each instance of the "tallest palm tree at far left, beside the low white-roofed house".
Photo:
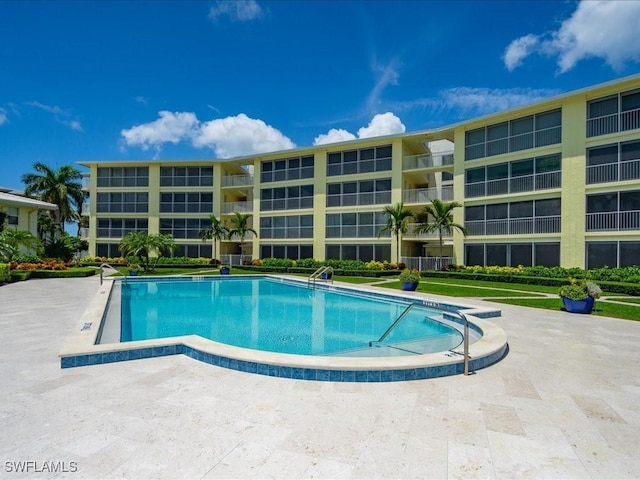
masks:
{"type": "Polygon", "coordinates": [[[26,185],[24,193],[57,205],[58,210],[53,215],[62,224],[64,231],[65,222],[75,218],[85,199],[82,174],[70,165],[63,165],[54,170],[41,162],[34,163],[33,169],[37,173],[26,173],[22,176],[22,183],[26,185]]]}

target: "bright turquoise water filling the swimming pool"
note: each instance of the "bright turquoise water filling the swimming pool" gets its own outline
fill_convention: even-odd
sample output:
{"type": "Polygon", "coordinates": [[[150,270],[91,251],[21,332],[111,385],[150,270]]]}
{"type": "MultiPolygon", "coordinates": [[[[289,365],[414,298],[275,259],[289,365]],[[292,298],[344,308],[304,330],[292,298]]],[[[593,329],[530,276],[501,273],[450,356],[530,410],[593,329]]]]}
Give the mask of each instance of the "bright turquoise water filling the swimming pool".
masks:
{"type": "Polygon", "coordinates": [[[130,281],[121,285],[120,340],[195,334],[299,355],[376,355],[378,345],[415,354],[461,343],[456,329],[433,320],[440,311],[414,305],[379,344],[409,305],[262,277],[130,281]]]}

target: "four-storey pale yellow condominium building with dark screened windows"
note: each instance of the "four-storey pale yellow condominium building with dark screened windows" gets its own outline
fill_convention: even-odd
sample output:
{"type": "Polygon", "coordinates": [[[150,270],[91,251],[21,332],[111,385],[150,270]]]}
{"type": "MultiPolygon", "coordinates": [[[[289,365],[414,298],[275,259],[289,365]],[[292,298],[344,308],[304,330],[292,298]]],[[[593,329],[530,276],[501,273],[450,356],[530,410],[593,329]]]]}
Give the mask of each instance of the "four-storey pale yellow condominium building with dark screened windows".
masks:
{"type": "Polygon", "coordinates": [[[379,235],[382,210],[456,201],[447,261],[594,268],[640,264],[640,75],[434,130],[228,160],[85,161],[90,253],[131,231],[176,255],[404,261],[432,268],[437,234],[379,235]],[[257,236],[199,239],[209,215],[250,213],[257,236]]]}

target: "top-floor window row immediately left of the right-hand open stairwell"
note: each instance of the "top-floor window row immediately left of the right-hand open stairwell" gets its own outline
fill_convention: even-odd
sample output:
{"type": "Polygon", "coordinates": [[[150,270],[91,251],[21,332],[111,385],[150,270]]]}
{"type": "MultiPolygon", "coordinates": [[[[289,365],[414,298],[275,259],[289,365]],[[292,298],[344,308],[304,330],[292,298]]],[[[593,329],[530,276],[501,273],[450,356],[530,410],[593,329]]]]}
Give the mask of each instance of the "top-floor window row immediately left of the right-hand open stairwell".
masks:
{"type": "Polygon", "coordinates": [[[391,145],[327,154],[327,176],[391,170],[391,145]]]}

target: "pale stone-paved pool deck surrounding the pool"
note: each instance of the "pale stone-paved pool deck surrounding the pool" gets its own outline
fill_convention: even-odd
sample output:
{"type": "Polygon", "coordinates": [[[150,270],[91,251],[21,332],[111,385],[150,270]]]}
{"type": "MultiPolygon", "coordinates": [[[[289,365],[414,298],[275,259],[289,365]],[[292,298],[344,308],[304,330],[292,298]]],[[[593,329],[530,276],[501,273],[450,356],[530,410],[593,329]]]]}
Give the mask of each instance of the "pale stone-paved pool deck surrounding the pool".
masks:
{"type": "Polygon", "coordinates": [[[403,383],[183,356],[61,370],[97,288],[0,287],[1,478],[640,478],[640,322],[501,305],[504,360],[403,383]]]}

